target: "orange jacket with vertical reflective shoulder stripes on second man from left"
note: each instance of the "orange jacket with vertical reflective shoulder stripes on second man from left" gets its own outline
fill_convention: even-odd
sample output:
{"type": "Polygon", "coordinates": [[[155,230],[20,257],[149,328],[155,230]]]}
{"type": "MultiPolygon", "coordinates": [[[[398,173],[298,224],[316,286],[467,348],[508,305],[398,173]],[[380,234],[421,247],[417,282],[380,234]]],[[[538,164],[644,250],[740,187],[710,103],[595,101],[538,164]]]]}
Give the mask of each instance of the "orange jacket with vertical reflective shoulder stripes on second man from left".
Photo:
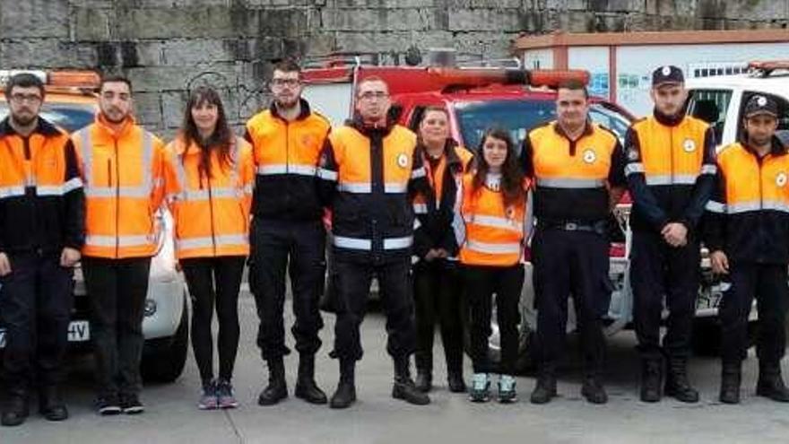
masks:
{"type": "Polygon", "coordinates": [[[154,215],[171,169],[159,138],[129,118],[118,132],[99,115],[72,135],[85,185],[82,255],[120,259],[152,257],[157,248],[154,215]]]}

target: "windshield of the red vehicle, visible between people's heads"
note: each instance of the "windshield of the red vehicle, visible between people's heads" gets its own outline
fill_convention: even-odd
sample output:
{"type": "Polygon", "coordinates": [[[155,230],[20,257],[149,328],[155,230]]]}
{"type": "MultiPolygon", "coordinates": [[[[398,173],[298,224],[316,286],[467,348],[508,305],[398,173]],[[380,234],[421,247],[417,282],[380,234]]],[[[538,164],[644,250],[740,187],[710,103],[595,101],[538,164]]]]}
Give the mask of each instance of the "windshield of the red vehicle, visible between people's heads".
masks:
{"type": "MultiPolygon", "coordinates": [[[[481,136],[490,126],[507,129],[519,144],[528,130],[556,118],[553,100],[469,101],[455,105],[455,109],[464,145],[469,147],[479,146],[481,136]]],[[[620,141],[629,126],[628,118],[598,103],[590,107],[589,118],[611,129],[620,141]]]]}

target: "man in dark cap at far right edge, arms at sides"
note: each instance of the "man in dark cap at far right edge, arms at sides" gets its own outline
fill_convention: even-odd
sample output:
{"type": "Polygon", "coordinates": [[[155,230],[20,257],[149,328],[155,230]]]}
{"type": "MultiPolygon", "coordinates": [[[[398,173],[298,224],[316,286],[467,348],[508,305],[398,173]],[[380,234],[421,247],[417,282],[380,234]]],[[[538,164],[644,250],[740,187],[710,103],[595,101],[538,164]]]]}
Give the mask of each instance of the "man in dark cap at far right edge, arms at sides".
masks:
{"type": "Polygon", "coordinates": [[[789,301],[789,155],[776,138],[776,101],[754,95],[745,105],[741,142],[718,155],[717,187],[707,203],[705,244],[713,272],[723,275],[720,400],[740,402],[741,361],[748,349],[753,298],[759,308],[756,393],[789,402],[781,378],[789,301]]]}

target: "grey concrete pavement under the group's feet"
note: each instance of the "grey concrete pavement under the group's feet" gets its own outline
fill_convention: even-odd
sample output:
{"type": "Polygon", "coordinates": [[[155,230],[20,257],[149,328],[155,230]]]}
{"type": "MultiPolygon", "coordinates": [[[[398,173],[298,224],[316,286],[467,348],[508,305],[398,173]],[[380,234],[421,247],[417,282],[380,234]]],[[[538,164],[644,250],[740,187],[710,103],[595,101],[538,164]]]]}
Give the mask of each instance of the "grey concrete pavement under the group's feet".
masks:
{"type": "MultiPolygon", "coordinates": [[[[433,403],[426,407],[406,405],[390,397],[392,365],[385,352],[384,318],[377,312],[370,313],[362,325],[365,358],[357,370],[356,405],[333,411],[294,398],[298,360],[294,353],[286,361],[290,398],[281,405],[260,407],[256,397],[266,374],[254,340],[255,303],[247,293],[242,295],[239,309],[241,346],[234,383],[241,406],[237,410],[196,409],[200,383],[190,355],[177,382],[145,387],[145,414],[102,418],[91,409],[90,365],[75,362],[66,394],[72,418],[51,423],[33,414],[21,427],[0,428],[0,443],[789,442],[789,405],[753,396],[753,358],[746,362],[741,405],[717,402],[719,364],[703,358],[694,358],[690,368],[691,379],[701,391],[700,403],[685,405],[672,399],[656,405],[640,403],[635,339],[630,332],[611,338],[608,405],[588,405],[580,396],[577,360],[561,374],[560,396],[549,405],[528,403],[534,382],[530,377],[518,378],[520,401],[515,405],[473,405],[464,395],[447,391],[438,346],[434,375],[438,387],[431,394],[433,403]]],[[[290,324],[290,308],[288,311],[290,324]]],[[[337,362],[327,357],[334,315],[325,314],[325,321],[325,344],[318,356],[316,379],[331,395],[338,376],[337,362]]],[[[288,340],[291,344],[292,338],[288,340]]],[[[466,367],[468,379],[468,361],[466,367]]],[[[785,371],[789,371],[786,365],[785,371]]]]}

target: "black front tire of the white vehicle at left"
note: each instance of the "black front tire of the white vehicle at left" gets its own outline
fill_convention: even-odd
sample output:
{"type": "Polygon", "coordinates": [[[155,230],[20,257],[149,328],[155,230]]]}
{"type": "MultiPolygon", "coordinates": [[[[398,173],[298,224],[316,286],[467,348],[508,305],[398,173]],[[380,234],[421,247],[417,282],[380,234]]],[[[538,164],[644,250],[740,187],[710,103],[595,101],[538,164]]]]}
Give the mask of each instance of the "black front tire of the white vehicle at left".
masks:
{"type": "Polygon", "coordinates": [[[140,372],[145,382],[173,382],[181,376],[189,347],[189,309],[184,310],[175,335],[145,342],[140,372]]]}

